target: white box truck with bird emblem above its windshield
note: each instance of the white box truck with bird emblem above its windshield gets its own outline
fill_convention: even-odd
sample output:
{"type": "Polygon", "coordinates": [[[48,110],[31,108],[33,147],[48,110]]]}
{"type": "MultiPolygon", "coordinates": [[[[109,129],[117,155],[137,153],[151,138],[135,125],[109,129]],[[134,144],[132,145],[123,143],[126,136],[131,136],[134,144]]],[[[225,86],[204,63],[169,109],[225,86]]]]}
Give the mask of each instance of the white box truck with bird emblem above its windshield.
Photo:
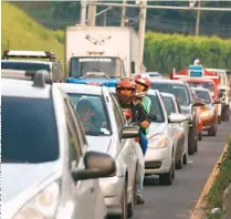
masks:
{"type": "Polygon", "coordinates": [[[138,35],[128,27],[67,27],[67,77],[106,74],[111,79],[138,72],[138,35]]]}

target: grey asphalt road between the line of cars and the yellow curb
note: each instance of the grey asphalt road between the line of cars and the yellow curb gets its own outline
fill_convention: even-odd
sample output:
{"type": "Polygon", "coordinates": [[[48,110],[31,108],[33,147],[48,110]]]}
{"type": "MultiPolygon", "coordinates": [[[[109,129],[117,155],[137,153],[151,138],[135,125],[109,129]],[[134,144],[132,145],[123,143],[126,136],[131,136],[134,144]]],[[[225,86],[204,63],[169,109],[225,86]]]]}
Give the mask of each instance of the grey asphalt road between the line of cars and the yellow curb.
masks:
{"type": "Polygon", "coordinates": [[[146,202],[135,206],[133,219],[188,219],[231,134],[230,127],[231,122],[222,122],[216,137],[203,136],[198,153],[189,156],[189,164],[176,170],[171,186],[159,186],[158,177],[146,178],[146,202]]]}

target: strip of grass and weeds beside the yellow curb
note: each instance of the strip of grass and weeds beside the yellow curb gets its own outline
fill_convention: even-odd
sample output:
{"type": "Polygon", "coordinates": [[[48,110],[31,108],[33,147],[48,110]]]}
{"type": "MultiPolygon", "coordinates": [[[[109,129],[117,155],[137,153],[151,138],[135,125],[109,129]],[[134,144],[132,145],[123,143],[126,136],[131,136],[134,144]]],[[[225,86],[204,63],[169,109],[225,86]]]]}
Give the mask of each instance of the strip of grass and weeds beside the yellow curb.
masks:
{"type": "MultiPolygon", "coordinates": [[[[206,202],[207,202],[207,212],[210,212],[213,208],[222,209],[223,205],[223,192],[225,188],[231,184],[231,136],[229,139],[228,152],[224,153],[220,166],[220,173],[212,188],[210,189],[206,202]]],[[[230,206],[231,208],[231,206],[230,206]]],[[[209,219],[222,219],[223,212],[209,213],[209,219]]]]}

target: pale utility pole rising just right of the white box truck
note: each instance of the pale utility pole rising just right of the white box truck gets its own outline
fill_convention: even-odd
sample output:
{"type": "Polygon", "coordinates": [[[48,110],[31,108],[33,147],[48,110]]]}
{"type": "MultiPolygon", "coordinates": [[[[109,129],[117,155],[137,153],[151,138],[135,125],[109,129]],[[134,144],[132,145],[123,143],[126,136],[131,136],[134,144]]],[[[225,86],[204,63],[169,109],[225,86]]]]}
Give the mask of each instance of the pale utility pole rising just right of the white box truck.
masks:
{"type": "Polygon", "coordinates": [[[140,11],[139,11],[139,72],[138,74],[143,73],[143,59],[144,59],[144,48],[145,48],[145,27],[146,27],[146,14],[147,14],[147,0],[140,1],[140,11]]]}

